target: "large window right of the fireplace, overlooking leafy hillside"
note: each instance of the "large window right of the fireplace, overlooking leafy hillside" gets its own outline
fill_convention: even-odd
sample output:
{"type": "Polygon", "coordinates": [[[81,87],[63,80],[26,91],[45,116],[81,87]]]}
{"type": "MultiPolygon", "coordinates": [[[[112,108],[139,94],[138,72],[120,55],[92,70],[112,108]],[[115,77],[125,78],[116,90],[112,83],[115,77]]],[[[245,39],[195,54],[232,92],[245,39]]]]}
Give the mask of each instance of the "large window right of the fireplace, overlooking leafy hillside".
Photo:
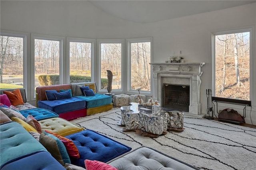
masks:
{"type": "Polygon", "coordinates": [[[250,100],[250,34],[214,33],[214,96],[250,100]]]}

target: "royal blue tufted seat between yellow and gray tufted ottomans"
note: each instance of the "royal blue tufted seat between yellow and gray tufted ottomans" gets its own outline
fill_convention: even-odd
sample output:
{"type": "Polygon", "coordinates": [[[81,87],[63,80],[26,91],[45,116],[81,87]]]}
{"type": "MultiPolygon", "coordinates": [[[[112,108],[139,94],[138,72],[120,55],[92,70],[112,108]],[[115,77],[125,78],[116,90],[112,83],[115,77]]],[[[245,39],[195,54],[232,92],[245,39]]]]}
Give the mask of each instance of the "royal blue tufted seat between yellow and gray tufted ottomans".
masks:
{"type": "Polygon", "coordinates": [[[84,130],[65,137],[74,142],[80,154],[79,159],[71,158],[71,163],[84,168],[86,159],[108,162],[132,149],[92,130],[84,130]]]}

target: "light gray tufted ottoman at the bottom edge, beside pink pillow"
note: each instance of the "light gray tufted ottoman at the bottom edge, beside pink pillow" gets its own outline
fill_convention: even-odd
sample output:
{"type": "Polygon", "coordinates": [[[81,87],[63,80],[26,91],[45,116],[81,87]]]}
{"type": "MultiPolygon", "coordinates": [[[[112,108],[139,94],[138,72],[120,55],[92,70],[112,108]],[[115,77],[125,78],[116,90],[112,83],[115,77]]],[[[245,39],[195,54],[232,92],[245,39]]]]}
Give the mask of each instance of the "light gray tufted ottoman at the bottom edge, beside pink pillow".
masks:
{"type": "Polygon", "coordinates": [[[118,170],[199,170],[180,160],[142,146],[107,162],[118,170]]]}

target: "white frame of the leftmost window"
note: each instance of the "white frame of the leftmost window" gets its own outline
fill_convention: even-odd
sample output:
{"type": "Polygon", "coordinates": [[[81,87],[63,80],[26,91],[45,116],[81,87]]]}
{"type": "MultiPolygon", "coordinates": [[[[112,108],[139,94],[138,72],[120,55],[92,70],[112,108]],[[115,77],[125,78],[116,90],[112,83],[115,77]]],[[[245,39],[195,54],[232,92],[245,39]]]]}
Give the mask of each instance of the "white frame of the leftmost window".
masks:
{"type": "Polygon", "coordinates": [[[23,87],[27,91],[27,101],[31,101],[33,98],[31,98],[32,91],[29,91],[28,89],[31,89],[30,87],[30,77],[31,72],[30,70],[30,33],[27,32],[17,32],[17,31],[9,31],[9,30],[1,30],[0,31],[1,36],[10,36],[10,37],[18,37],[23,38],[23,87]]]}

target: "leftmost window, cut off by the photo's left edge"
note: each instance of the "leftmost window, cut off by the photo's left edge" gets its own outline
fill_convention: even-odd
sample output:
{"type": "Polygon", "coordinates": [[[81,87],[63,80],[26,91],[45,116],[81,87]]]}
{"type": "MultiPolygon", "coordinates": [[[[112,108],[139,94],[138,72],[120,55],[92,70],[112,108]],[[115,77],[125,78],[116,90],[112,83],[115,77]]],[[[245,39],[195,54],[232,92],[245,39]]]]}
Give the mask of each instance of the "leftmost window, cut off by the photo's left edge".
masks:
{"type": "Polygon", "coordinates": [[[0,89],[24,87],[26,36],[0,36],[0,89]]]}

